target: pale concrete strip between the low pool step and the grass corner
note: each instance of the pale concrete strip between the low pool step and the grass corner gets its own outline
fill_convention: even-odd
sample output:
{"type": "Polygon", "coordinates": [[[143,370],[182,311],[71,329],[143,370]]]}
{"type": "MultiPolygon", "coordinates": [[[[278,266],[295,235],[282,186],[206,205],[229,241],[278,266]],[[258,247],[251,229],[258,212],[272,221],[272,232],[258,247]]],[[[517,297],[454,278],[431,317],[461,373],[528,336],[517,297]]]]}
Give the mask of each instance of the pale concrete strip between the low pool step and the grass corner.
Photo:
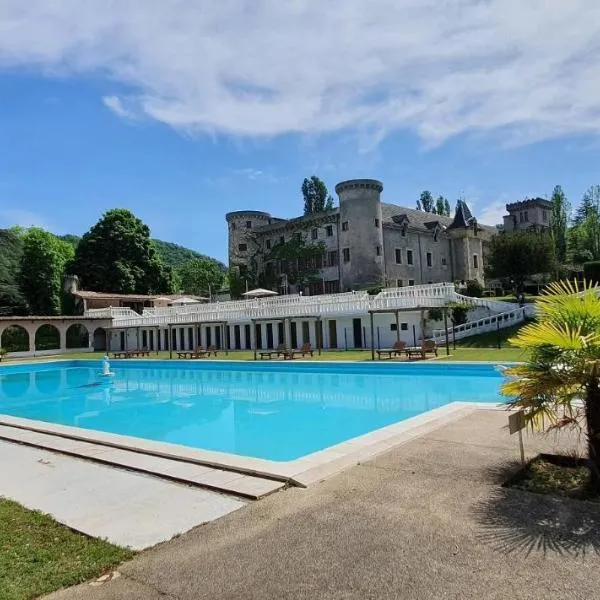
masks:
{"type": "Polygon", "coordinates": [[[0,460],[0,496],[135,550],[244,506],[230,496],[10,442],[0,441],[0,460]]]}

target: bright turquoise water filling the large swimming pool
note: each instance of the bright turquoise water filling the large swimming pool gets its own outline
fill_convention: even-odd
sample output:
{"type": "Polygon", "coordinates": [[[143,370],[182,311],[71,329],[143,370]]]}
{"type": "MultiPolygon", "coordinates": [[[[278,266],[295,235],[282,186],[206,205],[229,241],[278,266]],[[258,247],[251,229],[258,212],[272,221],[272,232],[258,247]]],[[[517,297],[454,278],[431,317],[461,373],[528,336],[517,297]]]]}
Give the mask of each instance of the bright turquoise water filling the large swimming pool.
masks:
{"type": "Polygon", "coordinates": [[[457,400],[493,365],[98,361],[0,367],[0,413],[286,461],[457,400]]]}

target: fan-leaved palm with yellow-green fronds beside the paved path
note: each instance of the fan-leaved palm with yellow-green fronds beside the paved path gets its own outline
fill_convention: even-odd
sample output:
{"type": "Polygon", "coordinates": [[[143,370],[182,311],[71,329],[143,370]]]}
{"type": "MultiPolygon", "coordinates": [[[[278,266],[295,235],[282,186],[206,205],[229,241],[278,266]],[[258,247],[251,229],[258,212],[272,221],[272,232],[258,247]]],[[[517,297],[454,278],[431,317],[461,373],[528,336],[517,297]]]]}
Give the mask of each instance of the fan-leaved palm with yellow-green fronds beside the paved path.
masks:
{"type": "Polygon", "coordinates": [[[530,360],[506,369],[502,393],[534,429],[585,427],[591,491],[600,493],[600,299],[595,284],[556,282],[536,303],[537,320],[511,344],[530,360]]]}

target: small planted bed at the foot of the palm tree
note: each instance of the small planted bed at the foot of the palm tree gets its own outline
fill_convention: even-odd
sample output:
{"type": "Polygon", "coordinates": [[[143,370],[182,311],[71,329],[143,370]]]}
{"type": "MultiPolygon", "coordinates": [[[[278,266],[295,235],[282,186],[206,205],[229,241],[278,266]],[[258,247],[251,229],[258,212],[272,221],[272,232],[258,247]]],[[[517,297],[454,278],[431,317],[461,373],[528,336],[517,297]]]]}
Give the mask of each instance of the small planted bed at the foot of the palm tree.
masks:
{"type": "Polygon", "coordinates": [[[540,454],[505,485],[536,494],[600,502],[600,497],[590,496],[588,482],[589,469],[585,466],[585,460],[540,454]]]}

